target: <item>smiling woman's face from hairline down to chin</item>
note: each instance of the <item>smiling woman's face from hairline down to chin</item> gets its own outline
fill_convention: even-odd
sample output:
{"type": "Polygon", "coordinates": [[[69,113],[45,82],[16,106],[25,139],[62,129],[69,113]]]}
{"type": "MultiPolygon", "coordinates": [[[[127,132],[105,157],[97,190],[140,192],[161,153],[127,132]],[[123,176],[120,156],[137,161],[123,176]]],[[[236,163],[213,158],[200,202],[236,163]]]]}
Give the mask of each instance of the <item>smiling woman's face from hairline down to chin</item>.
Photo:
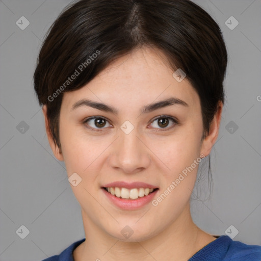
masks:
{"type": "Polygon", "coordinates": [[[184,215],[200,155],[217,138],[216,128],[201,140],[199,96],[186,77],[178,82],[172,74],[159,50],[143,48],[64,94],[62,154],[49,141],[68,177],[77,173],[71,188],[84,223],[107,236],[149,239],[184,215]]]}

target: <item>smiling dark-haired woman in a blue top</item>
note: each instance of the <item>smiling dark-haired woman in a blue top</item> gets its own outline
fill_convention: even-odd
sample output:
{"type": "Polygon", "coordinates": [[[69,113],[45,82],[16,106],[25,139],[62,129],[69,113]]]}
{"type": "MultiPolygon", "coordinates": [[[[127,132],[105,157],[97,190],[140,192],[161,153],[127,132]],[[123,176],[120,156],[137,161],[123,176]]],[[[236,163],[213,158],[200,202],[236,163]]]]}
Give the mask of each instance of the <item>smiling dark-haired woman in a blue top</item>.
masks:
{"type": "Polygon", "coordinates": [[[226,66],[218,24],[188,0],[82,0],[62,12],[34,83],[86,238],[45,260],[260,260],[260,246],[213,236],[190,213],[226,66]]]}

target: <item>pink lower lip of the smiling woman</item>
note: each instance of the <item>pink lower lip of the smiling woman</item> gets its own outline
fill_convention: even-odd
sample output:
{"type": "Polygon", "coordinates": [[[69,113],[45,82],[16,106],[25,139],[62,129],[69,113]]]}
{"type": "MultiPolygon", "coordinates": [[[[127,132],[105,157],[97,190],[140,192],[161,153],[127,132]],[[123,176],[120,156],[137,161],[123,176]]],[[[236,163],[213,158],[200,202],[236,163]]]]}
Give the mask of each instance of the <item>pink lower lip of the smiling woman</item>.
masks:
{"type": "Polygon", "coordinates": [[[105,189],[102,189],[103,193],[111,200],[112,203],[114,203],[116,206],[121,208],[122,210],[138,210],[139,208],[142,208],[146,204],[148,204],[152,199],[155,197],[158,190],[153,191],[147,196],[137,198],[137,199],[122,199],[118,198],[105,189]]]}

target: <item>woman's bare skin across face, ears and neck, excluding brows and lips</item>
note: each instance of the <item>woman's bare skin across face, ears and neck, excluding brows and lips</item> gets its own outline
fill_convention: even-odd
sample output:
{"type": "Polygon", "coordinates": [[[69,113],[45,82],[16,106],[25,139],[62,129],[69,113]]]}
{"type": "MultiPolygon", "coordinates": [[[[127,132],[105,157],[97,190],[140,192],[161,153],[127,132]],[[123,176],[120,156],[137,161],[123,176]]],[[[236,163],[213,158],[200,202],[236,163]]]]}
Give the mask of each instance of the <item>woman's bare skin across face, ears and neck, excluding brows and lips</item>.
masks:
{"type": "Polygon", "coordinates": [[[198,165],[157,206],[149,203],[140,210],[120,210],[101,189],[113,181],[142,181],[159,188],[156,198],[200,154],[210,154],[218,138],[223,105],[219,103],[210,132],[202,140],[199,96],[186,78],[179,83],[172,74],[160,50],[144,47],[110,64],[83,88],[64,93],[61,153],[51,138],[43,107],[49,144],[56,158],[65,162],[68,177],[76,172],[82,178],[76,187],[70,185],[82,207],[86,234],[86,241],[73,252],[74,260],[188,260],[216,239],[191,218],[190,196],[198,165]],[[189,107],[174,105],[140,114],[143,106],[173,96],[189,107]],[[113,106],[119,114],[87,106],[71,110],[83,98],[113,106]],[[154,120],[161,115],[175,117],[179,123],[170,120],[162,128],[154,120]],[[99,128],[89,121],[89,127],[101,130],[91,131],[88,123],[83,123],[91,116],[109,122],[99,128]],[[126,120],[134,126],[128,135],[120,128],[126,120]],[[121,234],[126,225],[134,231],[128,239],[121,234]]]}

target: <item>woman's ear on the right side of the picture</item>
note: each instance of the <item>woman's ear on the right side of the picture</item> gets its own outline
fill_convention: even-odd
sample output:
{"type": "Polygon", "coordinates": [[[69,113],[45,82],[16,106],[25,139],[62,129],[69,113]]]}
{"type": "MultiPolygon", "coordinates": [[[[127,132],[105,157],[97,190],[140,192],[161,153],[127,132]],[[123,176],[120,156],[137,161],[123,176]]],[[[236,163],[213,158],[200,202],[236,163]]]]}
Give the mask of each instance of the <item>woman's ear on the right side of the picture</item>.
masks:
{"type": "Polygon", "coordinates": [[[203,154],[205,156],[210,154],[211,149],[218,138],[222,109],[223,109],[223,103],[220,101],[218,104],[217,112],[214,115],[214,118],[210,125],[210,132],[202,142],[200,154],[203,154]]]}

